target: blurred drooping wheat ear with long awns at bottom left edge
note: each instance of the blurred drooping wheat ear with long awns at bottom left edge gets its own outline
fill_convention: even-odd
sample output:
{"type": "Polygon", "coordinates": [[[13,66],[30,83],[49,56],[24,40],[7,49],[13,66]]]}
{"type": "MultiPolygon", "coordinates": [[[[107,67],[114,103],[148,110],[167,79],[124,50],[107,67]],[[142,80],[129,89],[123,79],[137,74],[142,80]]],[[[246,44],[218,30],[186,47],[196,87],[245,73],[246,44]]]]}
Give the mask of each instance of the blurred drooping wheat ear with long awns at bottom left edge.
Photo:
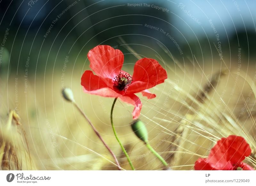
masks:
{"type": "Polygon", "coordinates": [[[15,111],[10,111],[7,124],[1,124],[0,131],[1,170],[35,169],[28,149],[24,128],[20,123],[19,115],[15,111]]]}

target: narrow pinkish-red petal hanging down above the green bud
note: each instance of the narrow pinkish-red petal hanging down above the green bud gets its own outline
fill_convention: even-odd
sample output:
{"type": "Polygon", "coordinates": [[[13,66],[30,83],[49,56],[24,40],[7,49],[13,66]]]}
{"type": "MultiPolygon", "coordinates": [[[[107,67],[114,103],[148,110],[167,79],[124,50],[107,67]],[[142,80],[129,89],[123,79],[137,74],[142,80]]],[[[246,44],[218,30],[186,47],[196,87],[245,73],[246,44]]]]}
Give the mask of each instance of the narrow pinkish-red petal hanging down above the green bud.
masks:
{"type": "Polygon", "coordinates": [[[133,115],[134,120],[137,119],[140,116],[140,110],[142,107],[140,98],[138,96],[136,96],[135,94],[120,96],[119,98],[126,103],[134,105],[132,115],[133,115]]]}

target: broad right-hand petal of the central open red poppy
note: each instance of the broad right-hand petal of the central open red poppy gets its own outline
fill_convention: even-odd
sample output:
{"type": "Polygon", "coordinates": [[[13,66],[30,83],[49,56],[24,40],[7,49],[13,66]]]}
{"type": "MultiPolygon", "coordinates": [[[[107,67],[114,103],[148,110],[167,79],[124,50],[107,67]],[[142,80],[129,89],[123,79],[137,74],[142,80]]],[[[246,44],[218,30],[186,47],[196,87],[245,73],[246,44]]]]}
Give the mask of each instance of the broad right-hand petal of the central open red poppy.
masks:
{"type": "Polygon", "coordinates": [[[132,84],[127,89],[127,94],[152,88],[159,83],[163,83],[166,78],[166,71],[155,59],[140,59],[134,65],[132,84]]]}

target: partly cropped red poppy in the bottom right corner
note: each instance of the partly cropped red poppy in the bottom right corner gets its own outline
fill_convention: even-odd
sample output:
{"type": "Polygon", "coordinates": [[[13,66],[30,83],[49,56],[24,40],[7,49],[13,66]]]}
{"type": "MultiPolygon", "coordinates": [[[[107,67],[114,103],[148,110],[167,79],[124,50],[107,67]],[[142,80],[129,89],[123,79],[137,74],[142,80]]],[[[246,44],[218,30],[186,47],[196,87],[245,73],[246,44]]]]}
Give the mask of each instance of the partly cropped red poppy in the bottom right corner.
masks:
{"type": "Polygon", "coordinates": [[[195,170],[254,170],[242,162],[252,150],[241,136],[221,138],[211,149],[209,157],[199,158],[195,170]]]}

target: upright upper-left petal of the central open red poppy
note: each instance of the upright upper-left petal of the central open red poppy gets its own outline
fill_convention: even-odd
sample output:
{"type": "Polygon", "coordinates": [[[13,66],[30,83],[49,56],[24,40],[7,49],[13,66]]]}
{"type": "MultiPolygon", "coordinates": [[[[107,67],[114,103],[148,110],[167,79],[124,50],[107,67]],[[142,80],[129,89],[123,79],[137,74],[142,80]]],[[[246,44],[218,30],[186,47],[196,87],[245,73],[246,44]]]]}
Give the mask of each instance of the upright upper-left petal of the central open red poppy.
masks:
{"type": "Polygon", "coordinates": [[[98,45],[88,52],[90,68],[100,77],[113,80],[120,73],[124,54],[108,45],[98,45]]]}

